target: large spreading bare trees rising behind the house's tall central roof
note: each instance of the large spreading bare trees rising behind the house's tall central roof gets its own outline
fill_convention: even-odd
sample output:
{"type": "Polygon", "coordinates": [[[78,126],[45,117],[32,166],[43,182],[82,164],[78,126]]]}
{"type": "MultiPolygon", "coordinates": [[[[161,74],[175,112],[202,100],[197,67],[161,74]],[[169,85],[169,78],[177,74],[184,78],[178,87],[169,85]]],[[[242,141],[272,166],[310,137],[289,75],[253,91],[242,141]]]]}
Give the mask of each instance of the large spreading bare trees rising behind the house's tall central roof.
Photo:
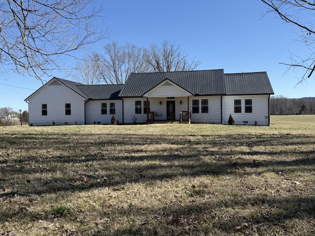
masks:
{"type": "Polygon", "coordinates": [[[92,64],[78,66],[78,69],[95,68],[95,78],[100,77],[106,84],[124,84],[130,73],[193,70],[200,64],[189,61],[180,46],[169,41],[164,41],[160,47],[151,45],[150,49],[112,42],[104,46],[104,54],[94,53],[88,63],[92,64]]]}

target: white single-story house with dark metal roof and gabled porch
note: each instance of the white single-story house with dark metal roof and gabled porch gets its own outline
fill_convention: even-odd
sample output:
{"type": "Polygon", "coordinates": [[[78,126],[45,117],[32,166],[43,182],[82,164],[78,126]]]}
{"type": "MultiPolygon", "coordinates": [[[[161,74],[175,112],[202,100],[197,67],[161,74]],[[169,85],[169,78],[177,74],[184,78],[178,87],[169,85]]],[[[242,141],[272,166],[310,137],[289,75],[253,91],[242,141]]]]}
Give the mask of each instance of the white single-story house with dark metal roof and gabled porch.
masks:
{"type": "Polygon", "coordinates": [[[270,125],[266,72],[223,69],[131,73],[124,85],[83,85],[54,77],[25,99],[31,125],[193,122],[270,125]]]}

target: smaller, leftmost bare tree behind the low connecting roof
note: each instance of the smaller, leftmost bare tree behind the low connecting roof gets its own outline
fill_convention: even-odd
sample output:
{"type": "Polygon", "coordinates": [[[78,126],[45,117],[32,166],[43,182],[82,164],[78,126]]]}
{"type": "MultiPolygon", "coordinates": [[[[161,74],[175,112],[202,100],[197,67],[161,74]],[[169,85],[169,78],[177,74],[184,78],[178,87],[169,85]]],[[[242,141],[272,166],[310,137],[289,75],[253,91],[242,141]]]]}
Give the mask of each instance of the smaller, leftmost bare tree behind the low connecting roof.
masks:
{"type": "Polygon", "coordinates": [[[101,82],[98,71],[98,61],[93,56],[87,56],[79,60],[73,78],[85,85],[97,85],[101,82]]]}

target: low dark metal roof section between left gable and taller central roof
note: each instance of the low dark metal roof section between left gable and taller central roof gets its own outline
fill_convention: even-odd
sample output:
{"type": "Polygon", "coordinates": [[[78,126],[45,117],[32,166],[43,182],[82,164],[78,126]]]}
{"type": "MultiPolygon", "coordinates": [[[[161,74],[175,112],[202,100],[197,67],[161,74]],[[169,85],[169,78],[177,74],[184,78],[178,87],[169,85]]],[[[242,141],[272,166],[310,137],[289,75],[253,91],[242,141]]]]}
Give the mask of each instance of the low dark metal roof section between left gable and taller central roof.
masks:
{"type": "Polygon", "coordinates": [[[119,93],[124,85],[78,85],[80,89],[89,99],[120,99],[119,93]]]}

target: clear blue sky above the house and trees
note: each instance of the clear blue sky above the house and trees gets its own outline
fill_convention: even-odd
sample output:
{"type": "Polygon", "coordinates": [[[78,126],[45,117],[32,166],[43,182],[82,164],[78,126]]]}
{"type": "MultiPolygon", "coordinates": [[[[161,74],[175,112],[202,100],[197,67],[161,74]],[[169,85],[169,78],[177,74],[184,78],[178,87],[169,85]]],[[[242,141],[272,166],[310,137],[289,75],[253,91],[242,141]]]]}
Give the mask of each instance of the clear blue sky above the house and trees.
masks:
{"type": "MultiPolygon", "coordinates": [[[[102,52],[103,45],[113,41],[139,47],[175,41],[189,55],[199,60],[197,70],[224,69],[225,73],[266,71],[275,95],[288,98],[315,96],[315,75],[297,85],[304,73],[279,62],[290,62],[289,54],[310,52],[297,41],[300,32],[284,24],[275,14],[262,17],[267,9],[260,0],[98,0],[109,38],[92,45],[90,51],[102,52]]],[[[313,21],[313,19],[312,19],[313,21]]],[[[77,52],[86,55],[89,51],[77,52]]],[[[76,61],[64,58],[70,66],[76,61]]],[[[53,76],[65,78],[68,71],[53,76]]],[[[43,80],[50,80],[45,77],[43,80]]],[[[66,77],[65,79],[71,79],[66,77]]],[[[0,107],[14,111],[28,110],[24,101],[42,86],[35,78],[7,73],[0,76],[0,107]],[[14,87],[12,87],[14,86],[14,87]],[[20,88],[16,88],[20,87],[20,88]]]]}

